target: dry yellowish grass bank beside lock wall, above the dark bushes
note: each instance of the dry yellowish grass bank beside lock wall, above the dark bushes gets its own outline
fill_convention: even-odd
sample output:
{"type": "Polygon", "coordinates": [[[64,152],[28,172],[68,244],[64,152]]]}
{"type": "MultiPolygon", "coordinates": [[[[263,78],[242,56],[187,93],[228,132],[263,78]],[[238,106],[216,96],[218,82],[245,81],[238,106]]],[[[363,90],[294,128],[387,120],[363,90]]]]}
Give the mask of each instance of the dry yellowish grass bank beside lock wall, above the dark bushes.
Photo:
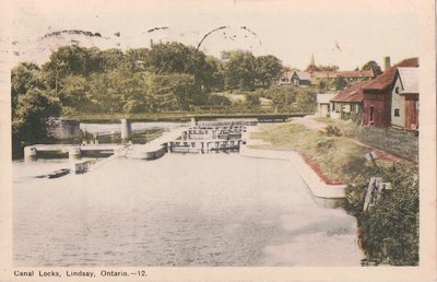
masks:
{"type": "MultiPolygon", "coordinates": [[[[368,133],[365,131],[367,129],[359,129],[359,127],[354,129],[354,127],[357,126],[340,120],[320,120],[311,116],[296,118],[286,124],[260,125],[259,131],[252,132],[249,138],[262,142],[252,142],[248,146],[272,151],[295,151],[329,185],[349,184],[359,173],[361,165],[371,166],[373,163],[366,162],[365,158],[368,153],[371,153],[378,166],[387,167],[393,163],[417,166],[417,163],[412,160],[390,153],[400,146],[398,143],[390,146],[390,143],[395,143],[399,134],[391,133],[387,138],[379,136],[380,141],[375,141],[374,144],[379,144],[379,148],[386,145],[386,150],[381,150],[376,149],[376,145],[371,146],[357,141],[356,139],[361,138],[357,133],[359,130],[363,131],[362,136],[368,136],[368,133]],[[355,132],[355,138],[350,137],[351,132],[355,132]],[[385,138],[388,140],[385,141],[385,138]]],[[[375,131],[375,129],[369,130],[375,131]]],[[[414,144],[418,150],[417,140],[416,143],[414,140],[409,141],[408,148],[413,148],[414,144]]],[[[414,155],[411,158],[414,158],[414,155]]]]}

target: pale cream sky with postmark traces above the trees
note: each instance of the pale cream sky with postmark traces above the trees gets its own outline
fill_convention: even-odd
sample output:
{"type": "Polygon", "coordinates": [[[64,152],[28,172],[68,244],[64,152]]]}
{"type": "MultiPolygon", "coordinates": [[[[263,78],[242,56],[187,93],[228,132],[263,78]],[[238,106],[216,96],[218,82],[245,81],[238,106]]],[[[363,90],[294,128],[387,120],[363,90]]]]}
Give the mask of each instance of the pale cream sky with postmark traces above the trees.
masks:
{"type": "Polygon", "coordinates": [[[150,39],[197,47],[205,34],[226,26],[206,37],[200,49],[218,56],[222,49],[241,48],[274,55],[299,69],[314,55],[316,64],[352,70],[369,60],[382,64],[385,56],[392,62],[417,57],[417,9],[411,0],[23,0],[11,3],[7,40],[24,50],[20,59],[32,60],[44,54],[42,46],[54,45],[40,38],[61,30],[97,32],[106,39],[88,45],[126,49],[150,47],[150,39]],[[163,26],[168,28],[147,33],[163,26]]]}

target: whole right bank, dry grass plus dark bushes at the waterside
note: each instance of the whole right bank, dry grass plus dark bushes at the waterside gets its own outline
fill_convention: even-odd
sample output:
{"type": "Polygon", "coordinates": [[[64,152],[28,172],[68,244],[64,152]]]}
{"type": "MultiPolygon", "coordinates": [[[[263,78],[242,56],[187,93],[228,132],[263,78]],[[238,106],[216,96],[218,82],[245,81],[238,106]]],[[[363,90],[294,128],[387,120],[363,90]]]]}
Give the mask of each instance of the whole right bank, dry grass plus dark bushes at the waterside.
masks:
{"type": "Polygon", "coordinates": [[[379,148],[416,160],[417,137],[322,121],[326,127],[321,130],[293,122],[265,125],[250,137],[269,142],[256,148],[297,151],[323,179],[347,184],[344,209],[357,219],[358,243],[366,254],[363,263],[417,266],[418,167],[392,160],[377,160],[374,165],[365,157],[366,152],[379,148]],[[375,204],[364,211],[370,177],[380,177],[392,189],[378,191],[375,204]]]}

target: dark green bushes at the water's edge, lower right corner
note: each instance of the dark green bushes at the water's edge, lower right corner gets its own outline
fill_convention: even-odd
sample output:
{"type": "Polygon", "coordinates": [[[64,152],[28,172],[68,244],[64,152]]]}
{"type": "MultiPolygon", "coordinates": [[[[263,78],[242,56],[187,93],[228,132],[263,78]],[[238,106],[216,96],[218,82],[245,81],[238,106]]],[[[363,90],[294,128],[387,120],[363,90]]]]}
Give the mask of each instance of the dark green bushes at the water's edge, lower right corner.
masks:
{"type": "Polygon", "coordinates": [[[418,265],[418,180],[417,168],[397,164],[364,167],[346,188],[344,208],[358,219],[367,259],[392,266],[418,265]],[[370,176],[392,185],[375,205],[363,212],[370,176]]]}

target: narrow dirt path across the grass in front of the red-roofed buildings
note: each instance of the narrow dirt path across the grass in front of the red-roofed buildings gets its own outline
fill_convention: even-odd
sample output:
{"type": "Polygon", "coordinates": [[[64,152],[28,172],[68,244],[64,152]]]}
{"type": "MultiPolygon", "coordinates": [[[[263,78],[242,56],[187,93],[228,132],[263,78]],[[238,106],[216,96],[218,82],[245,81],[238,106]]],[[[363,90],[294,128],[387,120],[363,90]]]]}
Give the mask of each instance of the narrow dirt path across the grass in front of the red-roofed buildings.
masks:
{"type": "MultiPolygon", "coordinates": [[[[315,118],[316,118],[316,116],[314,116],[314,115],[305,116],[303,118],[295,118],[291,122],[304,125],[305,127],[307,127],[308,129],[311,129],[311,130],[323,130],[327,127],[327,125],[321,122],[321,121],[317,121],[315,118]]],[[[349,138],[349,137],[345,137],[345,138],[349,138]]],[[[390,154],[390,153],[388,153],[386,151],[382,151],[380,149],[376,149],[376,148],[373,148],[373,146],[367,145],[365,143],[362,143],[358,140],[355,140],[355,139],[352,139],[352,138],[349,138],[349,139],[354,141],[355,143],[357,143],[361,146],[367,148],[368,151],[371,152],[371,154],[374,155],[374,157],[376,160],[379,158],[379,160],[397,162],[397,163],[408,163],[408,164],[415,165],[415,166],[418,165],[417,162],[412,162],[410,160],[406,160],[406,158],[390,154]]]]}

